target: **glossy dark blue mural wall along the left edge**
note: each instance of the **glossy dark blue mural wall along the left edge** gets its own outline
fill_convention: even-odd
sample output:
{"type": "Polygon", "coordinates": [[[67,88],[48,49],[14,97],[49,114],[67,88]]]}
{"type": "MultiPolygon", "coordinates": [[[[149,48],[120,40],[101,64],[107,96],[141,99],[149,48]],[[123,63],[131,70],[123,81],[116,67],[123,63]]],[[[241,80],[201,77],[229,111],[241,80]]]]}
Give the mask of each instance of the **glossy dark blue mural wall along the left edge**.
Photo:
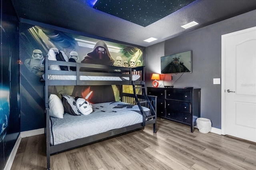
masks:
{"type": "Polygon", "coordinates": [[[1,0],[0,170],[20,134],[18,18],[8,0],[1,0]]]}

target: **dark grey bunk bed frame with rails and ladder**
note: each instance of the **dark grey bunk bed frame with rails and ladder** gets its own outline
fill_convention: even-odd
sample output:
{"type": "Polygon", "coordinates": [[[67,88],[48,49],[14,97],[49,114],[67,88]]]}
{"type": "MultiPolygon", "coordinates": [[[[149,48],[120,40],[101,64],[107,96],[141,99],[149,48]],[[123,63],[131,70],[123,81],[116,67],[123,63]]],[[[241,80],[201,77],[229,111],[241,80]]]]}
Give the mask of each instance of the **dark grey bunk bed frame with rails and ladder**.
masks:
{"type": "Polygon", "coordinates": [[[116,67],[116,66],[107,66],[107,65],[96,65],[96,64],[86,64],[86,63],[73,63],[73,62],[65,62],[65,61],[52,61],[48,60],[48,56],[45,56],[45,86],[44,86],[44,95],[45,95],[45,115],[46,115],[46,156],[47,156],[47,169],[50,170],[50,155],[57,154],[60,152],[64,152],[66,150],[70,150],[72,148],[77,148],[79,146],[84,146],[87,144],[91,144],[93,142],[98,142],[101,140],[105,140],[114,136],[118,136],[121,134],[125,134],[128,132],[132,132],[135,130],[143,129],[146,125],[153,124],[153,132],[156,133],[156,97],[155,96],[147,96],[145,83],[144,81],[132,81],[132,72],[134,71],[142,71],[141,79],[144,80],[144,66],[142,67],[116,67]],[[64,65],[76,67],[76,71],[57,71],[57,70],[49,70],[48,65],[64,65]],[[80,71],[80,68],[86,68],[87,71],[80,71]],[[120,70],[118,73],[114,73],[113,70],[120,70]],[[92,72],[92,71],[110,71],[109,72],[92,72]],[[76,75],[76,80],[48,80],[48,75],[76,75]],[[80,80],[80,75],[94,75],[94,76],[122,76],[129,77],[129,80],[124,81],[83,81],[80,80]],[[49,105],[48,105],[48,86],[54,85],[120,85],[120,97],[121,101],[128,103],[129,99],[131,104],[136,104],[140,108],[140,112],[142,113],[143,122],[135,125],[130,125],[123,128],[118,128],[114,130],[109,130],[107,132],[103,132],[100,134],[95,134],[92,136],[79,138],[76,140],[72,140],[69,142],[64,142],[61,144],[51,145],[50,144],[50,115],[49,115],[49,105]],[[130,93],[122,93],[122,85],[132,85],[134,94],[130,93]],[[136,94],[136,88],[142,89],[142,94],[136,94]],[[151,116],[146,117],[144,111],[142,110],[142,106],[148,107],[151,111],[151,116]]]}

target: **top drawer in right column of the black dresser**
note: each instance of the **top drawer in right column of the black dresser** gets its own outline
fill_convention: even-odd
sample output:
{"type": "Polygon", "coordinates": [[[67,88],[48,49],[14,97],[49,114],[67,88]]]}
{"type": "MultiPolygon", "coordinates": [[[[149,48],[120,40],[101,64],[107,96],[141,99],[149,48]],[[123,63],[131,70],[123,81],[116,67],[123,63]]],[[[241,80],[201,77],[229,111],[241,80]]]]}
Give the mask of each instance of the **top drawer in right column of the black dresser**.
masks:
{"type": "Polygon", "coordinates": [[[182,90],[182,89],[167,89],[166,90],[166,99],[181,100],[181,101],[190,101],[191,100],[191,91],[182,90]]]}

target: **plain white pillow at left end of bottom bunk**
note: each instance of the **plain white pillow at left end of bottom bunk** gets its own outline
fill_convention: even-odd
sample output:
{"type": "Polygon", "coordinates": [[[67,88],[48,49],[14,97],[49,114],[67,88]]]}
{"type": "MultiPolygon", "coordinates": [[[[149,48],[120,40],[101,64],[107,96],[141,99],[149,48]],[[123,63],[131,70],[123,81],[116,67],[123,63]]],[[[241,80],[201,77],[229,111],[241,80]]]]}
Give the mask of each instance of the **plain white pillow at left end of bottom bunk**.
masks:
{"type": "Polygon", "coordinates": [[[50,116],[56,118],[63,118],[64,107],[60,98],[57,95],[51,94],[48,103],[50,107],[50,116]]]}

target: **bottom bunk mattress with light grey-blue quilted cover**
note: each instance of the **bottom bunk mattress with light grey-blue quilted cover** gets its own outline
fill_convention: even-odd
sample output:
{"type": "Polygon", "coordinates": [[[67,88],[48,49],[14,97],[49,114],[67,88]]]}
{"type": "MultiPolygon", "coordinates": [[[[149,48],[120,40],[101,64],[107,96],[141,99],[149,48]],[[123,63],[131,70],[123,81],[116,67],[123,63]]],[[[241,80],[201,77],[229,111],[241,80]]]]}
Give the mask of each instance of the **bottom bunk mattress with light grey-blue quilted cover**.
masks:
{"type": "MultiPolygon", "coordinates": [[[[148,116],[150,110],[142,108],[148,116]]],[[[50,117],[50,144],[56,145],[143,122],[138,105],[108,102],[93,104],[92,109],[89,115],[64,113],[63,119],[50,117]]]]}

